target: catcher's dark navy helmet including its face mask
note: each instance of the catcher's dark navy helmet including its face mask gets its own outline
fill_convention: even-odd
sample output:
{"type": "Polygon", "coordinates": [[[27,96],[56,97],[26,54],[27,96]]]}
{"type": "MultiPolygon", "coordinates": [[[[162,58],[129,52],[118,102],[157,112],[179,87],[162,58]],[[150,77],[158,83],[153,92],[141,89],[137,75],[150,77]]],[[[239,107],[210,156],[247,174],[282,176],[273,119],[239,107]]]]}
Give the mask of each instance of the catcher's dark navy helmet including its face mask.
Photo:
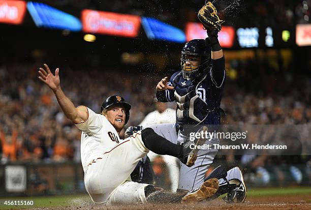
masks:
{"type": "Polygon", "coordinates": [[[181,50],[181,71],[184,79],[194,79],[202,76],[211,65],[210,46],[204,39],[194,39],[185,43],[181,50]],[[198,61],[190,57],[199,58],[198,61]],[[186,66],[186,62],[199,62],[198,66],[186,66]]]}

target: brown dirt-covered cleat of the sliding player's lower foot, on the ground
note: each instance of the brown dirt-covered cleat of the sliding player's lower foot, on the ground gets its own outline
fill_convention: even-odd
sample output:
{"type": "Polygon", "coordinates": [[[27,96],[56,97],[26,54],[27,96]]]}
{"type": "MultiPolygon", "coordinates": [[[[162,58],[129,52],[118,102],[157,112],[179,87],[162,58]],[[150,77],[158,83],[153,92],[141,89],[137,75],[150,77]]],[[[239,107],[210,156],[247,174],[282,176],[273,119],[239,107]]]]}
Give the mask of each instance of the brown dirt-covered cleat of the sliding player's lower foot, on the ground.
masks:
{"type": "Polygon", "coordinates": [[[213,196],[219,188],[217,178],[211,178],[205,181],[199,188],[185,194],[181,202],[198,202],[213,196]]]}

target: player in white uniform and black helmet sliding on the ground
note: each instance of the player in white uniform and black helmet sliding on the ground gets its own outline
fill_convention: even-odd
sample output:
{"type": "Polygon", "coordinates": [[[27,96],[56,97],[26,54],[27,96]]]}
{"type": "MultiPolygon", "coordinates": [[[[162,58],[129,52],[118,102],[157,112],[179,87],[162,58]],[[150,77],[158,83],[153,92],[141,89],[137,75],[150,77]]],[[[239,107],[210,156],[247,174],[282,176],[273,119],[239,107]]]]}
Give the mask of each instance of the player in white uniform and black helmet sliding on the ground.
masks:
{"type": "MultiPolygon", "coordinates": [[[[81,134],[81,161],[86,191],[95,203],[192,202],[211,197],[219,188],[217,178],[208,179],[198,189],[169,193],[149,184],[131,181],[130,174],[149,151],[178,158],[183,164],[195,161],[190,144],[173,144],[146,128],[121,140],[119,133],[130,118],[131,105],[120,96],[107,98],[101,113],[86,106],[77,108],[60,87],[59,69],[39,69],[39,79],[55,94],[60,108],[81,134]]],[[[199,139],[198,139],[199,140],[199,139]]]]}

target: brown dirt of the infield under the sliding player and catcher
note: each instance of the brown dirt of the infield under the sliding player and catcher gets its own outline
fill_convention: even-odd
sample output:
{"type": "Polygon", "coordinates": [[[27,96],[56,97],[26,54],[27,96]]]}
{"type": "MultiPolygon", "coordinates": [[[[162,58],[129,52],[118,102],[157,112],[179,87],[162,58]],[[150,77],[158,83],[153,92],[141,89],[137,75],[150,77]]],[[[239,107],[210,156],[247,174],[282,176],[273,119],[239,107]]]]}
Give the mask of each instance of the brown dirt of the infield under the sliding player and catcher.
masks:
{"type": "MultiPolygon", "coordinates": [[[[193,204],[140,204],[140,205],[118,205],[118,206],[102,206],[94,205],[89,201],[79,201],[75,200],[73,203],[81,205],[76,207],[60,207],[60,208],[48,208],[48,209],[105,209],[105,210],[180,210],[180,209],[217,209],[217,210],[227,210],[227,209],[311,209],[311,195],[287,195],[287,196],[251,196],[247,197],[245,203],[224,203],[221,199],[200,202],[193,204]]],[[[47,208],[45,208],[47,209],[47,208]]]]}

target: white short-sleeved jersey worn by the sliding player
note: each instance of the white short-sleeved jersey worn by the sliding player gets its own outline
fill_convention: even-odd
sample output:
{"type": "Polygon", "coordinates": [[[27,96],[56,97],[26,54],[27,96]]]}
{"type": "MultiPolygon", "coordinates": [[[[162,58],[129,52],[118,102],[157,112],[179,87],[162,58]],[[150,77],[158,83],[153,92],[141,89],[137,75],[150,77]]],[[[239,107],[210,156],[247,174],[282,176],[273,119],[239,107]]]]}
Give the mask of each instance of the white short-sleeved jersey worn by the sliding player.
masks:
{"type": "Polygon", "coordinates": [[[110,151],[120,142],[115,128],[108,119],[87,108],[88,118],[84,123],[75,124],[81,134],[81,162],[84,172],[86,167],[105,152],[110,151]]]}

